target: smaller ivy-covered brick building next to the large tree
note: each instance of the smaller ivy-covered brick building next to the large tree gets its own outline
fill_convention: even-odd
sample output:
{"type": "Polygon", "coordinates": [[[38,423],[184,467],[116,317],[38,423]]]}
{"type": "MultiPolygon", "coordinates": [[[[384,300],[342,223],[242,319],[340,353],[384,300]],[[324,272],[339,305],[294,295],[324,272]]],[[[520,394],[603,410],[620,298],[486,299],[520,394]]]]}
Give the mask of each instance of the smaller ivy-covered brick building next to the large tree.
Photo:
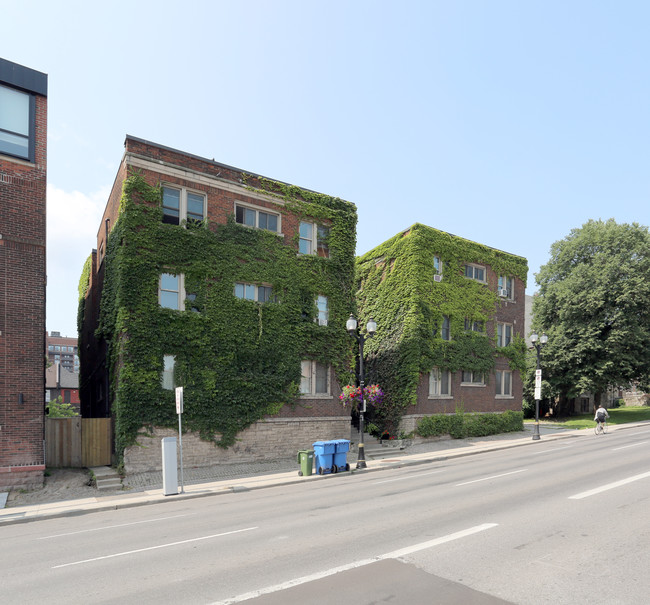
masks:
{"type": "Polygon", "coordinates": [[[357,259],[371,422],[410,432],[423,416],[521,410],[525,258],[415,224],[357,259]]]}

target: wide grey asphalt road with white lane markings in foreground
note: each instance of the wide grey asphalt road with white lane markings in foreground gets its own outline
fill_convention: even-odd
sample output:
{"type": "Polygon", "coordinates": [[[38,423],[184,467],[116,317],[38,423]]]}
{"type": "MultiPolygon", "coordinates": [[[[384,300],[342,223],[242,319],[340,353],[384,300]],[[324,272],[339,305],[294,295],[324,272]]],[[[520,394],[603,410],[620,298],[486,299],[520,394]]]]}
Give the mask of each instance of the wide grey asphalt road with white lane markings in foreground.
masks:
{"type": "Polygon", "coordinates": [[[647,603],[650,427],[0,529],[6,603],[647,603]]]}

